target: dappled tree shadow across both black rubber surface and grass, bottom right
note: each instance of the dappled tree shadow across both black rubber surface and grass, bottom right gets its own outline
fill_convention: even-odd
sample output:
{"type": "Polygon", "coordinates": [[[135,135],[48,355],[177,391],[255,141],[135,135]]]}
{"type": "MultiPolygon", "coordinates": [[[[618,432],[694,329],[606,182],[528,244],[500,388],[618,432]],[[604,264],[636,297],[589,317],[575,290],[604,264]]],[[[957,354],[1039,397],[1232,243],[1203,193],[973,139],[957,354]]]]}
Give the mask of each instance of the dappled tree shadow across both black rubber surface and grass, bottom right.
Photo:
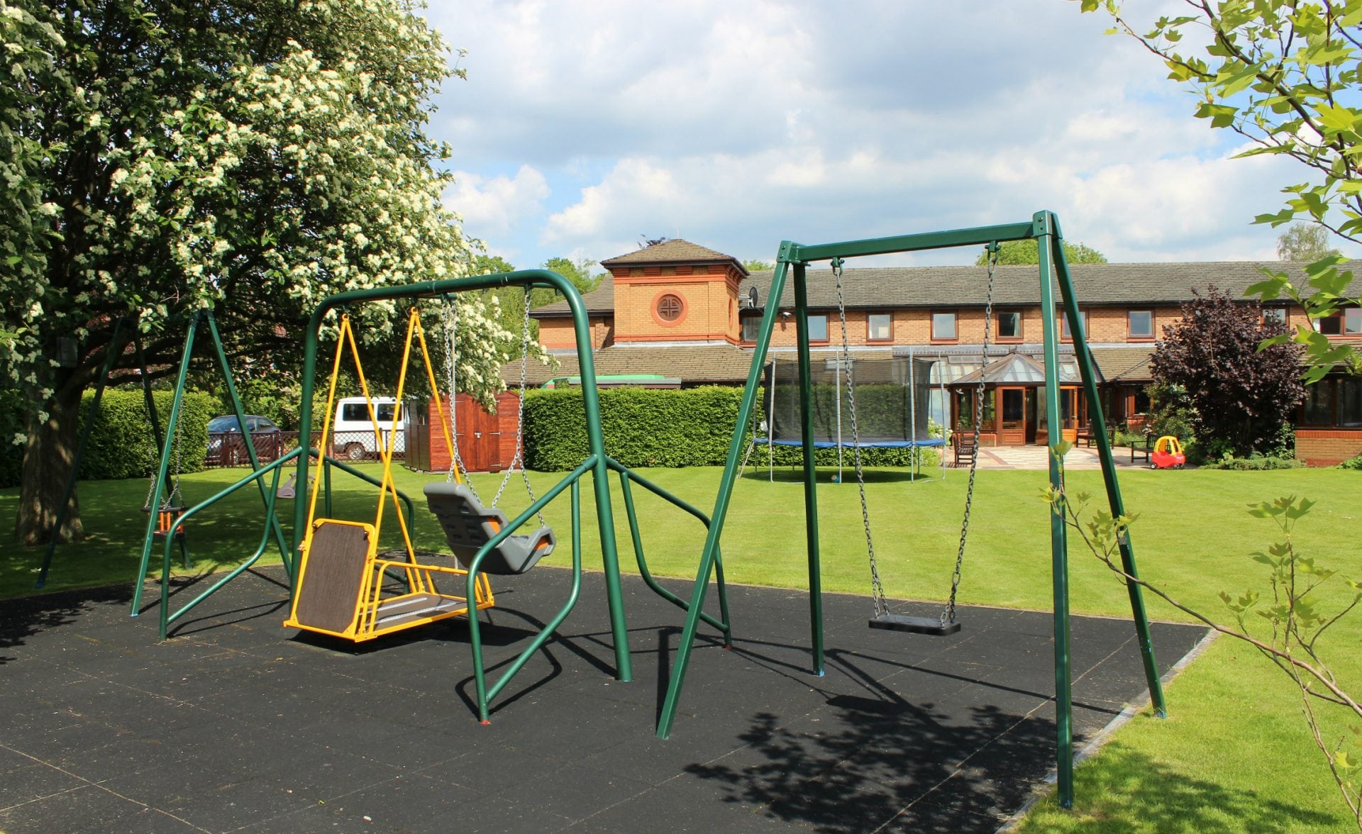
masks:
{"type": "MultiPolygon", "coordinates": [[[[849,695],[829,698],[827,706],[812,721],[785,726],[775,715],[757,713],[742,735],[749,747],[686,771],[716,782],[722,801],[814,831],[953,833],[996,831],[1054,766],[1056,725],[1047,717],[849,695]]],[[[1136,815],[1139,830],[1336,824],[1308,808],[1173,771],[1143,754],[1121,750],[1115,756],[1114,767],[1088,766],[1095,779],[1080,778],[1080,807],[1087,800],[1098,811],[1065,822],[1083,830],[1135,830],[1129,809],[1102,808],[1125,801],[1136,782],[1137,796],[1148,794],[1136,815]]],[[[1050,814],[1069,816],[1053,808],[1050,814]]]]}

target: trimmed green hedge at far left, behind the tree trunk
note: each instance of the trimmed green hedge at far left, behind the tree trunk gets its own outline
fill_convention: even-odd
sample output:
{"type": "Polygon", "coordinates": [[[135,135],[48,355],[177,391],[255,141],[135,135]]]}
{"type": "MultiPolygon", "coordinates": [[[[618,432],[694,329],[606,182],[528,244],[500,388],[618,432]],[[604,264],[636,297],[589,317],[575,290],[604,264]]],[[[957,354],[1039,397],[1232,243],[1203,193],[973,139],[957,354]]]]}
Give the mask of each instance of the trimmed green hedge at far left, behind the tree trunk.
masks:
{"type": "MultiPolygon", "coordinates": [[[[170,418],[170,391],[154,391],[157,413],[163,427],[170,418]]],[[[80,401],[80,425],[90,416],[94,391],[86,391],[80,401]]],[[[199,472],[208,451],[208,420],[215,417],[219,403],[211,394],[189,391],[180,410],[180,469],[199,472]]],[[[23,403],[16,394],[5,392],[0,399],[0,432],[4,432],[4,451],[0,454],[0,486],[19,484],[23,447],[12,444],[16,433],[23,435],[23,403]]],[[[80,462],[83,480],[136,478],[151,472],[155,461],[155,440],[140,390],[108,388],[99,403],[99,418],[90,429],[90,446],[80,462]]],[[[174,470],[174,458],[170,459],[174,470]]]]}

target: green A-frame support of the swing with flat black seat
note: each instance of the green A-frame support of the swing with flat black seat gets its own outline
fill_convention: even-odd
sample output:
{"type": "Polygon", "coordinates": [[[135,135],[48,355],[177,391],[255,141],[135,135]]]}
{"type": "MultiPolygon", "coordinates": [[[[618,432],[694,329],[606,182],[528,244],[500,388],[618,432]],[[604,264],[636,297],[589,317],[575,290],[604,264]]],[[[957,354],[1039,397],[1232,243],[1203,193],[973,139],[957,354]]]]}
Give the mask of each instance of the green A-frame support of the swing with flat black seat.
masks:
{"type": "MultiPolygon", "coordinates": [[[[696,583],[691,598],[685,628],[677,647],[676,661],[671,666],[671,676],[667,684],[666,700],[662,706],[662,715],[658,721],[656,735],[666,739],[671,732],[676,718],[677,702],[685,684],[686,666],[691,661],[691,649],[695,642],[696,630],[700,624],[699,612],[704,605],[708,590],[710,575],[714,571],[719,553],[719,541],[723,536],[723,523],[729,512],[729,500],[733,496],[733,486],[737,481],[738,461],[742,457],[744,429],[752,420],[752,410],[756,405],[757,387],[760,384],[761,369],[765,365],[767,352],[771,346],[771,334],[775,330],[775,320],[779,300],[785,292],[786,282],[794,275],[794,319],[798,338],[799,364],[799,403],[804,422],[804,510],[806,530],[806,551],[809,566],[809,621],[810,645],[813,654],[813,672],[823,675],[823,589],[819,561],[819,504],[814,484],[813,462],[813,409],[812,367],[809,360],[809,303],[808,303],[808,264],[821,260],[857,258],[866,255],[888,255],[896,252],[918,252],[925,249],[943,249],[955,247],[990,245],[1012,240],[1035,240],[1039,248],[1039,283],[1041,308],[1054,309],[1054,288],[1060,288],[1060,300],[1069,333],[1073,334],[1073,353],[1079,362],[1079,372],[1083,377],[1083,390],[1090,403],[1094,436],[1098,440],[1098,457],[1102,463],[1102,478],[1106,485],[1107,504],[1111,515],[1125,515],[1125,503],[1117,484],[1115,463],[1111,459],[1111,440],[1106,435],[1106,421],[1102,416],[1102,405],[1098,398],[1096,375],[1092,367],[1092,357],[1087,348],[1087,335],[1083,328],[1081,316],[1075,300],[1073,279],[1069,275],[1069,266],[1064,258],[1061,245],[1060,223],[1050,211],[1038,211],[1030,222],[1005,223],[996,226],[978,226],[972,229],[955,229],[949,232],[932,232],[923,234],[907,234],[899,237],[881,237],[873,240],[851,240],[819,245],[802,245],[791,241],[780,244],[776,258],[775,274],[771,278],[771,289],[767,293],[767,307],[761,318],[761,328],[756,338],[752,356],[752,368],[748,372],[746,391],[734,424],[733,442],[729,446],[729,457],[723,467],[723,477],[719,482],[719,493],[714,501],[714,512],[710,519],[708,536],[704,541],[704,551],[700,556],[700,566],[696,574],[696,583]]],[[[1049,421],[1049,436],[1061,437],[1060,425],[1060,386],[1058,386],[1058,339],[1056,337],[1057,322],[1051,315],[1042,315],[1042,331],[1045,337],[1045,402],[1046,418],[1049,421]]],[[[1050,485],[1062,488],[1062,470],[1060,459],[1050,455],[1050,485]]],[[[1036,512],[1042,510],[1038,507],[1036,512]]],[[[1069,555],[1068,530],[1065,527],[1065,510],[1043,510],[1050,519],[1050,564],[1054,591],[1054,698],[1056,698],[1056,771],[1060,789],[1060,803],[1064,807],[1073,804],[1073,694],[1069,657],[1069,555]]],[[[1121,564],[1130,576],[1137,576],[1135,551],[1129,537],[1124,537],[1121,544],[1121,564]]],[[[1150,698],[1156,715],[1166,715],[1163,687],[1159,681],[1158,665],[1154,658],[1154,642],[1150,636],[1150,620],[1144,608],[1144,597],[1140,586],[1126,582],[1130,597],[1130,613],[1135,620],[1136,635],[1144,662],[1144,676],[1150,687],[1150,698]]]]}

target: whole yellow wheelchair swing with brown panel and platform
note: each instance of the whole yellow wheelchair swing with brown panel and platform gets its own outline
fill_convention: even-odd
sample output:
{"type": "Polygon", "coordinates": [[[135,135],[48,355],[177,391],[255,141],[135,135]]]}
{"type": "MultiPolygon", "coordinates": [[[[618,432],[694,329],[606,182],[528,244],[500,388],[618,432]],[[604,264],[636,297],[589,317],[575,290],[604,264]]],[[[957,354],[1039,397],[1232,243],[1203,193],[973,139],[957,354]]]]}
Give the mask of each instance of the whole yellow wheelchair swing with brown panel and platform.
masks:
{"type": "MultiPolygon", "coordinates": [[[[403,386],[406,384],[413,337],[417,337],[421,345],[430,388],[437,390],[425,334],[421,328],[419,318],[413,309],[407,322],[407,343],[398,376],[398,402],[402,402],[403,386]]],[[[323,437],[330,436],[340,357],[347,345],[354,357],[355,375],[369,407],[369,418],[375,427],[380,425],[375,414],[373,398],[369,395],[369,386],[365,382],[364,369],[360,364],[354,330],[350,326],[349,316],[342,316],[336,357],[331,369],[326,418],[321,428],[323,437]]],[[[449,443],[449,428],[444,418],[440,398],[434,398],[434,402],[440,410],[440,428],[445,432],[445,442],[449,443]]],[[[436,576],[447,575],[451,581],[456,581],[458,587],[466,587],[469,572],[456,563],[443,566],[417,560],[410,530],[398,500],[398,489],[392,482],[392,442],[396,425],[398,410],[394,409],[392,421],[387,427],[387,437],[381,436],[380,428],[375,429],[375,433],[379,435],[375,440],[380,450],[379,457],[383,463],[383,478],[380,481],[379,507],[373,523],[316,518],[317,492],[321,478],[313,481],[308,504],[308,536],[301,545],[297,587],[293,594],[289,619],[283,621],[286,627],[364,642],[437,620],[469,616],[470,605],[466,597],[441,593],[436,585],[436,576]],[[392,506],[398,512],[398,527],[402,530],[405,544],[405,548],[398,551],[402,555],[400,559],[384,559],[379,553],[379,534],[383,529],[385,499],[388,496],[392,497],[392,506]],[[406,589],[400,593],[394,593],[391,586],[385,589],[384,579],[394,574],[405,579],[406,589]]],[[[455,476],[462,482],[462,473],[456,472],[455,476]]],[[[474,585],[471,609],[477,612],[484,608],[492,608],[494,602],[490,582],[486,575],[479,575],[474,585]]]]}

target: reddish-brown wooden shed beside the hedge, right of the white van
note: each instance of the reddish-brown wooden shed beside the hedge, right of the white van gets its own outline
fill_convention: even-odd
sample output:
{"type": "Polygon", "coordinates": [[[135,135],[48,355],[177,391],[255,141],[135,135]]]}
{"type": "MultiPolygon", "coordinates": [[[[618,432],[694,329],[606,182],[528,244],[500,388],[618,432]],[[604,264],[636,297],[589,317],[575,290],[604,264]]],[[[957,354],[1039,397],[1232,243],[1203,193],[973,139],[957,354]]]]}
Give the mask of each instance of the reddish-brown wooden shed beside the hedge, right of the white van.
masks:
{"type": "MultiPolygon", "coordinates": [[[[469,472],[501,472],[511,465],[516,451],[516,416],[520,397],[513,391],[497,394],[497,413],[484,409],[467,394],[455,397],[455,443],[469,472]]],[[[449,401],[444,398],[445,414],[449,401]]],[[[447,472],[449,448],[440,429],[440,412],[433,399],[409,398],[406,407],[406,466],[417,472],[447,472]]]]}

